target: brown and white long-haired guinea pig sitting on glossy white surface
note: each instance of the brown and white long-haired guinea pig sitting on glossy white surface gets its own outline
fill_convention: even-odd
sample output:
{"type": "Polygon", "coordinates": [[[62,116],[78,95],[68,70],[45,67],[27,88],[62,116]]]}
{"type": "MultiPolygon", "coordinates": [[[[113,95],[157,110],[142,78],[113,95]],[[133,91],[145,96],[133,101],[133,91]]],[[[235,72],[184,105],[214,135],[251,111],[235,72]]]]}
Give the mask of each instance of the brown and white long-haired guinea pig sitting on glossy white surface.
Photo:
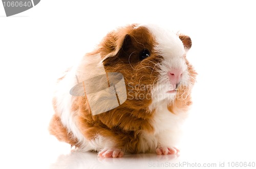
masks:
{"type": "Polygon", "coordinates": [[[175,146],[197,75],[186,58],[190,47],[188,36],[154,24],[131,24],[108,33],[58,79],[50,133],[103,158],[179,154],[175,146]],[[114,93],[125,95],[114,107],[109,93],[99,92],[113,87],[105,82],[111,72],[123,80],[123,88],[114,93]],[[78,93],[84,94],[72,95],[78,83],[78,93]]]}

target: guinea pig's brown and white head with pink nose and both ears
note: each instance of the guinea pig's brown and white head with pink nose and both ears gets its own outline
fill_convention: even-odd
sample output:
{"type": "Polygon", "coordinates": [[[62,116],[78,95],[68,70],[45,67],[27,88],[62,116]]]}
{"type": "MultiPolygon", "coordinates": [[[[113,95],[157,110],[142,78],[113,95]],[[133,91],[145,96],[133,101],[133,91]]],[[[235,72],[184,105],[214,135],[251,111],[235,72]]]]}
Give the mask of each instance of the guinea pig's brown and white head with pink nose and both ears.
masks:
{"type": "Polygon", "coordinates": [[[132,24],[109,33],[100,44],[106,72],[122,73],[131,106],[182,100],[195,83],[186,59],[191,40],[157,25],[132,24]]]}

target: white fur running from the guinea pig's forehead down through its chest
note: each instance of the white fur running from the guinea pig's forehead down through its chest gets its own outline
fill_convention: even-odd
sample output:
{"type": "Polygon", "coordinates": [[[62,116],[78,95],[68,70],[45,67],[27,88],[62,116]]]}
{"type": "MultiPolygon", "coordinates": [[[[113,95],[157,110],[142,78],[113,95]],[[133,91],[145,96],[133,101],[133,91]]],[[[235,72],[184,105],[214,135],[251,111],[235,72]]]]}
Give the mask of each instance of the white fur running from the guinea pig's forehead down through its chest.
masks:
{"type": "Polygon", "coordinates": [[[181,85],[188,85],[189,75],[185,64],[185,50],[182,41],[175,33],[162,29],[157,25],[140,25],[146,27],[155,37],[157,46],[155,50],[163,57],[163,62],[159,63],[159,79],[152,89],[153,102],[150,109],[155,109],[155,116],[152,124],[155,129],[154,136],[144,134],[144,140],[149,147],[157,146],[173,147],[177,144],[181,133],[181,125],[185,119],[182,112],[179,115],[172,114],[167,109],[167,105],[175,99],[175,94],[167,93],[174,90],[167,73],[171,69],[182,71],[181,85]]]}

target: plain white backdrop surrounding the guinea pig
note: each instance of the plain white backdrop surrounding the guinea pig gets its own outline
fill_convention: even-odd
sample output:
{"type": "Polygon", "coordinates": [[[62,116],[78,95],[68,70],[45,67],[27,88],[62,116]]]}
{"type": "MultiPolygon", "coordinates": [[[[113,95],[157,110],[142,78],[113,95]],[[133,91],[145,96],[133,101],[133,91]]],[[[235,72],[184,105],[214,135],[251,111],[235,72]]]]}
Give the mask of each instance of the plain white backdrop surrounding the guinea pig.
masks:
{"type": "Polygon", "coordinates": [[[256,162],[254,4],[42,0],[12,17],[0,4],[0,167],[152,168],[172,158],[100,160],[69,154],[69,145],[48,134],[58,75],[108,31],[134,22],[163,24],[193,41],[187,57],[199,75],[181,156],[173,162],[256,162]]]}

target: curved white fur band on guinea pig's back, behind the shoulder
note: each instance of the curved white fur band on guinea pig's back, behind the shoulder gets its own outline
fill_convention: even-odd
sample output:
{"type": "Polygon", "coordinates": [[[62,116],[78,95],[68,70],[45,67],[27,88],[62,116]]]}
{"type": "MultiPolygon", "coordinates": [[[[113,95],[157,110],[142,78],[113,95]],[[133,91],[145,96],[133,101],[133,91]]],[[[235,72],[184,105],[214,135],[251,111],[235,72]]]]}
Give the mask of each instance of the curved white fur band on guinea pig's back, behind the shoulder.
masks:
{"type": "Polygon", "coordinates": [[[77,126],[75,119],[77,113],[71,111],[74,96],[70,94],[70,89],[77,85],[77,78],[78,81],[83,81],[105,73],[103,65],[101,66],[100,63],[101,59],[99,55],[82,59],[79,65],[74,66],[67,75],[58,82],[56,87],[57,91],[54,94],[57,101],[57,112],[60,112],[62,124],[67,127],[69,132],[74,134],[79,144],[81,144],[81,149],[84,151],[92,150],[92,147],[77,126]]]}

